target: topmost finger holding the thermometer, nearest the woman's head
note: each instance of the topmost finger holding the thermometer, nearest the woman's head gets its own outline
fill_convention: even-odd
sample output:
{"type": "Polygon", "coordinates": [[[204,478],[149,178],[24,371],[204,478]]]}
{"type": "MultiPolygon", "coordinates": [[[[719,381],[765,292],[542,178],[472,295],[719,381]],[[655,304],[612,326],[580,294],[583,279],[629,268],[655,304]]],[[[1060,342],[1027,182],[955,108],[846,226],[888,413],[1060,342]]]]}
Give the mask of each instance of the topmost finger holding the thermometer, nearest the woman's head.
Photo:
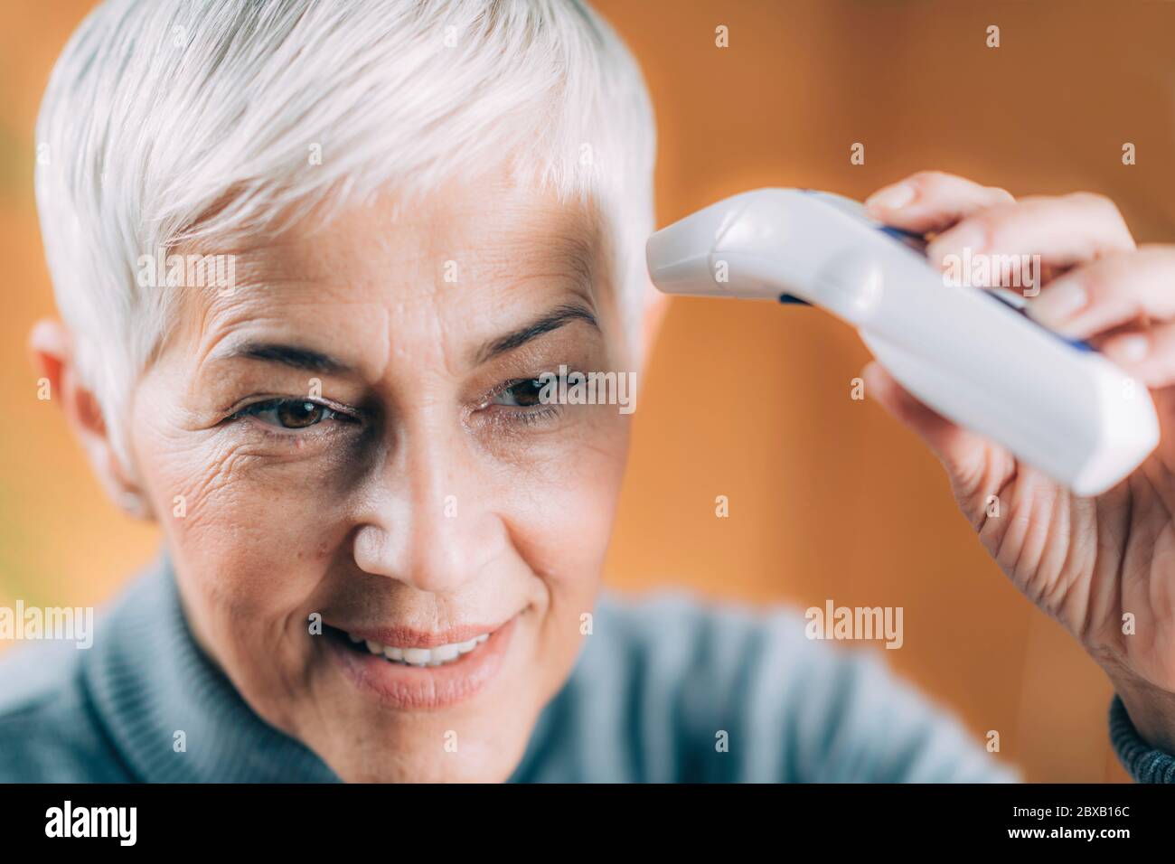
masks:
{"type": "Polygon", "coordinates": [[[1003,189],[938,170],[924,170],[870,195],[866,210],[904,230],[926,234],[949,228],[960,219],[1015,199],[1003,189]]]}

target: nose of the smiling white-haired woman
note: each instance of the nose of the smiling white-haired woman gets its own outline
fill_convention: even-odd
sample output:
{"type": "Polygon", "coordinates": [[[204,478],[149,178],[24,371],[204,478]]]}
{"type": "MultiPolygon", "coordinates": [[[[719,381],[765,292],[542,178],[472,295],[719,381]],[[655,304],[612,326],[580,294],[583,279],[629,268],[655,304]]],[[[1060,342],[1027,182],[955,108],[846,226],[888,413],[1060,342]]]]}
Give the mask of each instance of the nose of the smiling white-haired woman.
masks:
{"type": "Polygon", "coordinates": [[[475,448],[458,422],[423,420],[372,469],[355,535],[355,563],[419,591],[454,594],[505,543],[475,448]]]}

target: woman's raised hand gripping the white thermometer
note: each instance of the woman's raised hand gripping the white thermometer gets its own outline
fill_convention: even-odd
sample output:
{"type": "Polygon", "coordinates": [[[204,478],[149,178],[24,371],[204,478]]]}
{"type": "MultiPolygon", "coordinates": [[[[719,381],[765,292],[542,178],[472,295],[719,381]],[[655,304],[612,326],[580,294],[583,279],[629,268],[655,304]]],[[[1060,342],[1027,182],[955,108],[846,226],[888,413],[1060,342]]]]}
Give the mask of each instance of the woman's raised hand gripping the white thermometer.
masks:
{"type": "Polygon", "coordinates": [[[1087,339],[1150,388],[1159,447],[1116,487],[1083,498],[934,413],[877,362],[864,373],[866,391],[942,462],[1003,572],[1106,670],[1140,735],[1175,752],[1175,247],[1136,248],[1100,195],[1016,201],[936,172],[886,187],[867,206],[882,222],[933,233],[935,263],[964,247],[973,257],[1039,254],[1043,287],[1029,314],[1087,339]],[[1133,635],[1123,632],[1127,612],[1133,635]]]}

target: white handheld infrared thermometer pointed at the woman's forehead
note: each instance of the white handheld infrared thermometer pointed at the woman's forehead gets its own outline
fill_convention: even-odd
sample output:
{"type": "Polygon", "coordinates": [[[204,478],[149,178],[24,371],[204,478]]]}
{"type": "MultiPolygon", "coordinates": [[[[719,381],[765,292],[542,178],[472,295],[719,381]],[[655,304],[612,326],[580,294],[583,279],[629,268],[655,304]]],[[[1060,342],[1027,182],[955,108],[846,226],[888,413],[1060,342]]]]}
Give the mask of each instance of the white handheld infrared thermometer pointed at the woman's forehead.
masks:
{"type": "Polygon", "coordinates": [[[1142,383],[1006,296],[946,280],[916,237],[850,199],[745,192],[657,232],[646,255],[667,294],[827,309],[919,400],[1077,495],[1106,491],[1159,443],[1142,383]]]}

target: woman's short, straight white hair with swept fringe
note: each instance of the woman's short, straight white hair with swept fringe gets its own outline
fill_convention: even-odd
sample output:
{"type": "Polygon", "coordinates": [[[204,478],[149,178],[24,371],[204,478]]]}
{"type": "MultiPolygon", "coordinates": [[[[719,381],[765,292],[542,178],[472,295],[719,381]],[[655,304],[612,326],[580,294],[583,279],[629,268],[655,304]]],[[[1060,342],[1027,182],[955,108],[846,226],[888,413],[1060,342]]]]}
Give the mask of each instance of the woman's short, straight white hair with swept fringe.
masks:
{"type": "Polygon", "coordinates": [[[123,460],[125,400],[175,308],[137,283],[141,256],[428,195],[509,154],[598,208],[636,344],[656,127],[580,0],[107,0],[53,69],[36,146],[58,307],[123,460]]]}

